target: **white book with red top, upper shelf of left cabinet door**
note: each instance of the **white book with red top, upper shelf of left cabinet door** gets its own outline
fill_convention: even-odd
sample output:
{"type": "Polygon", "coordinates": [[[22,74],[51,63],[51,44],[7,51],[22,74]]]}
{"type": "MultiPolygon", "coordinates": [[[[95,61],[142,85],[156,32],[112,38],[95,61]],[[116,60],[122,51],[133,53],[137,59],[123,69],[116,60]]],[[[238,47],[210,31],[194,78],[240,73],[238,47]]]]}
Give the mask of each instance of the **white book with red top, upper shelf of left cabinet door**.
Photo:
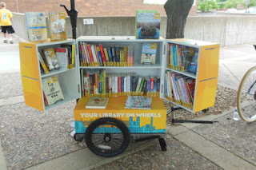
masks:
{"type": "Polygon", "coordinates": [[[69,69],[69,52],[66,48],[56,48],[56,56],[60,67],[69,69]]]}

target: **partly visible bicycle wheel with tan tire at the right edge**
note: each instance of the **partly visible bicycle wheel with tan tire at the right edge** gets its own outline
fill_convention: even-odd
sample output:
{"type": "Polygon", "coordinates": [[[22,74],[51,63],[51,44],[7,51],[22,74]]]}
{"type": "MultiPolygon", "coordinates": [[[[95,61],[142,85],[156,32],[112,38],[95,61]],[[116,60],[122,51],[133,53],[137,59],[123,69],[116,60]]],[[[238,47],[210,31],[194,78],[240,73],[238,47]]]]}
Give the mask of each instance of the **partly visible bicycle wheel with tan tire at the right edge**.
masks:
{"type": "Polygon", "coordinates": [[[238,88],[238,113],[243,121],[256,120],[256,66],[249,69],[238,88]]]}

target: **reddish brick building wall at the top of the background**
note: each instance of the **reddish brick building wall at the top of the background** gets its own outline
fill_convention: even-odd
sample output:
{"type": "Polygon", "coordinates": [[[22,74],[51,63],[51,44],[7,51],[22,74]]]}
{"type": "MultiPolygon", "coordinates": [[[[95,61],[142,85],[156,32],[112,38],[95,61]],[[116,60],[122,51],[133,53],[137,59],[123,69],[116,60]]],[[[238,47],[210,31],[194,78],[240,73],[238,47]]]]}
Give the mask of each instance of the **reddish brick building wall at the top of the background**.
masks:
{"type": "MultiPolygon", "coordinates": [[[[8,0],[7,9],[12,12],[66,12],[60,4],[70,10],[70,0],[8,0]],[[17,4],[18,3],[18,4],[17,4]]],[[[142,0],[75,0],[78,16],[134,16],[135,10],[158,10],[166,16],[163,5],[142,4],[142,0]]],[[[197,15],[197,6],[192,6],[189,16],[197,15]]]]}

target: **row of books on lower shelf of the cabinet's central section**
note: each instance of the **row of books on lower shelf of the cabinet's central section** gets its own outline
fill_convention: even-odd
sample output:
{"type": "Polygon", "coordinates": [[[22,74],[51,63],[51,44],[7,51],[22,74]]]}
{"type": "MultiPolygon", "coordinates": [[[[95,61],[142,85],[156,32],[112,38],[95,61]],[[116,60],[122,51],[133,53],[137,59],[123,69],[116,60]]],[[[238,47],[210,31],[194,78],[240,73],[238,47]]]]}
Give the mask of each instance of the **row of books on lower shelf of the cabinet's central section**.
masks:
{"type": "Polygon", "coordinates": [[[106,74],[106,70],[95,73],[83,71],[82,96],[118,97],[130,95],[159,96],[160,78],[138,77],[135,73],[106,74]]]}

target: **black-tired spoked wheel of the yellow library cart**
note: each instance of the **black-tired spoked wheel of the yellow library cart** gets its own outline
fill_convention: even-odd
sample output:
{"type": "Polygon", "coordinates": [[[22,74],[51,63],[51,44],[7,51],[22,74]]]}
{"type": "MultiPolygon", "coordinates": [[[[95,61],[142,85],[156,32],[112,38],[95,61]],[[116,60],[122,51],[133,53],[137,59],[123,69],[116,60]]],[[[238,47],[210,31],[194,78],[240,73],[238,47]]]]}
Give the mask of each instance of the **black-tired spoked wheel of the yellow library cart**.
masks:
{"type": "Polygon", "coordinates": [[[85,133],[85,140],[87,147],[96,155],[104,157],[117,156],[126,150],[130,142],[130,132],[122,121],[105,117],[93,121],[88,126],[85,133]],[[98,128],[102,125],[110,125],[111,127],[106,127],[107,129],[98,128]],[[110,132],[111,130],[113,132],[110,132]]]}

